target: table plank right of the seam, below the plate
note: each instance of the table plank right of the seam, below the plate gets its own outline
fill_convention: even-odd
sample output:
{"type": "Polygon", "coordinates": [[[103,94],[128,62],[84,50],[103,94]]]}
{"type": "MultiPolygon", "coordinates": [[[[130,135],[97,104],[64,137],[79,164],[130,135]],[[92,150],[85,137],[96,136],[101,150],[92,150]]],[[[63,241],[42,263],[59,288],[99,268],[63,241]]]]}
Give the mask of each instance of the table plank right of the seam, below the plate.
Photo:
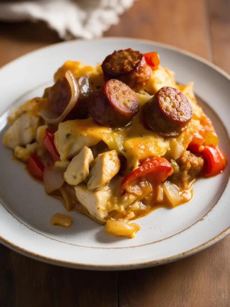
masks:
{"type": "Polygon", "coordinates": [[[119,272],[121,307],[229,307],[230,239],[189,258],[119,272]]]}

